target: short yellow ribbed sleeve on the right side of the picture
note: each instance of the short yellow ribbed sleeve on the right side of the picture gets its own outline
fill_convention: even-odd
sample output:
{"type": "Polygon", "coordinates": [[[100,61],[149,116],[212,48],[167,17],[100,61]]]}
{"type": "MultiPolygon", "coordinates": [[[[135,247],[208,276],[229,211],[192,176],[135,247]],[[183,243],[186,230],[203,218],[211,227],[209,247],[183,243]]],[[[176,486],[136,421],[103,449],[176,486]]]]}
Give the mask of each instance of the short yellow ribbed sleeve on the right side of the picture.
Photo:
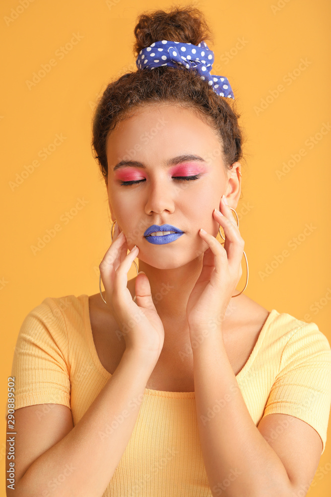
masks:
{"type": "Polygon", "coordinates": [[[288,339],[263,416],[289,414],[320,435],[323,450],[331,407],[331,347],[315,323],[306,323],[288,339]]]}

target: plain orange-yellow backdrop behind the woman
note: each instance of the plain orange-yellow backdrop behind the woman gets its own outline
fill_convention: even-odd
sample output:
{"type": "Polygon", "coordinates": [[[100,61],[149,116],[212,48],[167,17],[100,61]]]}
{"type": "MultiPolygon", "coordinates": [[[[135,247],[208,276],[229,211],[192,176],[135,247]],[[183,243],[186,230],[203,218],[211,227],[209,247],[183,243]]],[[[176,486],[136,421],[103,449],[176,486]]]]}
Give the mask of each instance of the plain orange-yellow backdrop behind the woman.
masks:
{"type": "MultiPolygon", "coordinates": [[[[247,135],[236,209],[249,262],[245,294],[268,310],[317,323],[331,342],[330,2],[194,4],[214,34],[211,73],[229,79],[247,135]],[[306,225],[314,228],[308,233],[306,225]],[[288,255],[281,261],[283,250],[288,255]]],[[[1,2],[1,46],[6,47],[0,106],[2,478],[6,384],[20,325],[46,297],[97,293],[98,266],[111,243],[107,192],[91,153],[96,99],[110,80],[136,68],[137,15],[171,5],[151,0],[138,5],[133,0],[1,2]],[[73,34],[76,44],[61,56],[59,50],[73,34]],[[28,85],[51,59],[56,64],[45,77],[28,85]],[[57,134],[66,138],[52,151],[57,134]],[[38,155],[44,147],[50,152],[45,160],[38,155]],[[39,166],[33,166],[36,160],[39,166]],[[85,205],[68,219],[66,212],[77,199],[85,205]],[[31,246],[56,224],[62,229],[34,254],[31,246]]],[[[132,265],[129,279],[135,274],[132,265]]],[[[243,259],[238,289],[245,277],[243,259]]],[[[328,435],[331,439],[330,425],[328,435]]],[[[327,496],[330,460],[331,441],[310,497],[327,496]]]]}

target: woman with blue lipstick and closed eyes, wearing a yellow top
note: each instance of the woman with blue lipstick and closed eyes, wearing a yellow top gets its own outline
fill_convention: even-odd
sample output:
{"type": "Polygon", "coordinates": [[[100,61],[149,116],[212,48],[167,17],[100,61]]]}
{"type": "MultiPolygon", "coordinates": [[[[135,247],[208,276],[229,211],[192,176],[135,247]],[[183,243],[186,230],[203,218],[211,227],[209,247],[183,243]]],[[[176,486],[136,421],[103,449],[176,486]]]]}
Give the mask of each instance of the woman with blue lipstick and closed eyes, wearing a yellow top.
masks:
{"type": "Polygon", "coordinates": [[[45,299],[17,340],[15,495],[307,492],[330,344],[237,289],[242,132],[202,13],[142,14],[134,33],[138,69],[93,122],[113,220],[105,290],[45,299]]]}

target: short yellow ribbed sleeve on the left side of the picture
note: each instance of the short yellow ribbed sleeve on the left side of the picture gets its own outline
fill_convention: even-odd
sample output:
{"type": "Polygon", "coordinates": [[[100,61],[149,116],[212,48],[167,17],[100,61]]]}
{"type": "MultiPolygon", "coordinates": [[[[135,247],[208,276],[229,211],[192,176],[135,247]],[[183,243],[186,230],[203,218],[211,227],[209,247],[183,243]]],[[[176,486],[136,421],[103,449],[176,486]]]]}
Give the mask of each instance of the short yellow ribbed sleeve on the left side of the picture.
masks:
{"type": "Polygon", "coordinates": [[[19,330],[11,369],[15,409],[36,404],[70,408],[66,322],[56,301],[44,299],[19,330]]]}

